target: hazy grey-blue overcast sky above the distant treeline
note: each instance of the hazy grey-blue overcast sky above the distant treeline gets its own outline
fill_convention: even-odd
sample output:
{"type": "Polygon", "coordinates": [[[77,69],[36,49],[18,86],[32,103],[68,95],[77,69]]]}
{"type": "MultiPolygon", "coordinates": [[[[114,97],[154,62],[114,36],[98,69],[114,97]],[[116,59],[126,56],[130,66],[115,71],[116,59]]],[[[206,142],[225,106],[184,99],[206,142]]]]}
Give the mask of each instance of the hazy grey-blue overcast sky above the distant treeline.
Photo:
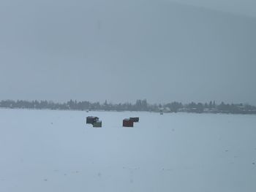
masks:
{"type": "Polygon", "coordinates": [[[181,2],[1,1],[0,99],[256,104],[255,3],[181,2]]]}

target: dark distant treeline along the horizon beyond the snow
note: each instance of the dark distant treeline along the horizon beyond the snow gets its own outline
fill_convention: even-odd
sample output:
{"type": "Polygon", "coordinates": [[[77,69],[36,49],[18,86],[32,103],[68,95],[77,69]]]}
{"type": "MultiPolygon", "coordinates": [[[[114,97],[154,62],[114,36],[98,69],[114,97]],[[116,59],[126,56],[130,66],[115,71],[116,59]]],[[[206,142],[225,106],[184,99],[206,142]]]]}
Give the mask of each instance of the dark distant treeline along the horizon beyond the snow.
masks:
{"type": "Polygon", "coordinates": [[[171,102],[167,104],[148,104],[146,99],[138,99],[135,104],[119,103],[112,104],[105,101],[70,101],[59,103],[53,101],[23,101],[23,100],[2,100],[0,107],[16,109],[49,109],[49,110],[105,110],[105,111],[148,111],[148,112],[211,112],[211,113],[233,113],[233,114],[256,114],[256,107],[249,104],[216,104],[209,101],[205,104],[191,102],[182,104],[181,102],[171,102]]]}

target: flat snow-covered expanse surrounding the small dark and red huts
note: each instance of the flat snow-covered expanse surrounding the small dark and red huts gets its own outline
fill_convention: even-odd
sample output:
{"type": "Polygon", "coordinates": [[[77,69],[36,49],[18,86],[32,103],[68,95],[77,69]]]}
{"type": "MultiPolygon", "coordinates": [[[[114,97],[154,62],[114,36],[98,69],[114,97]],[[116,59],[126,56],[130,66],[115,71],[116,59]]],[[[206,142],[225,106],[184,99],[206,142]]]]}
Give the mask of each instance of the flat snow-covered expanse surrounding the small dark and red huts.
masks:
{"type": "Polygon", "coordinates": [[[256,116],[1,109],[0,191],[255,192],[256,116]]]}

